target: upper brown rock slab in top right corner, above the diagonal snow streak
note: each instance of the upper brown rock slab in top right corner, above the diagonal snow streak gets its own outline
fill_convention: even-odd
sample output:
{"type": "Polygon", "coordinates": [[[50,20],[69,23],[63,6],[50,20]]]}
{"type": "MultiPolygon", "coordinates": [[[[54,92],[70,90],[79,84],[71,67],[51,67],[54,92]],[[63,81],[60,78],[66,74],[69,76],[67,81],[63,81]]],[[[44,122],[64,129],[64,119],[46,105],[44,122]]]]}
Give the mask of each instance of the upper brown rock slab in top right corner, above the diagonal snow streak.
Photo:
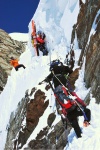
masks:
{"type": "Polygon", "coordinates": [[[81,48],[82,50],[85,49],[94,18],[99,9],[100,0],[87,0],[87,2],[85,4],[82,4],[80,7],[76,32],[79,42],[79,48],[81,48]]]}

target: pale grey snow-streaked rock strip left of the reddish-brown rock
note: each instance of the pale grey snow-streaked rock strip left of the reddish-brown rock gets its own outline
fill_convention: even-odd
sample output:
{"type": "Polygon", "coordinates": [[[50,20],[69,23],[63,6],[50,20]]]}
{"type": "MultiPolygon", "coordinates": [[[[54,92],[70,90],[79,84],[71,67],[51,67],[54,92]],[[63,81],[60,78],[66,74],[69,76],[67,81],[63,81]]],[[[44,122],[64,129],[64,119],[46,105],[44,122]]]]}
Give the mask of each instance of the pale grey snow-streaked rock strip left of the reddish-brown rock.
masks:
{"type": "MultiPolygon", "coordinates": [[[[26,107],[29,101],[30,99],[26,94],[25,98],[19,102],[16,112],[12,112],[10,115],[5,150],[12,150],[14,145],[18,142],[17,139],[24,128],[23,120],[26,116],[26,107]]],[[[25,138],[23,140],[25,140],[25,138]]]]}

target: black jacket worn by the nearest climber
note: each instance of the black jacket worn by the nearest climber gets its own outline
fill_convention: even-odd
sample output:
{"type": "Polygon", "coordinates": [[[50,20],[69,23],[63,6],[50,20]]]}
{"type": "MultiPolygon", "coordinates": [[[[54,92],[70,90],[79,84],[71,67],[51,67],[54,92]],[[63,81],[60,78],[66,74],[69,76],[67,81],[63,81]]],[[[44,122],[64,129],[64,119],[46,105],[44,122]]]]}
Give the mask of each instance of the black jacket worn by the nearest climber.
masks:
{"type": "MultiPolygon", "coordinates": [[[[66,78],[64,74],[71,74],[73,71],[68,66],[54,66],[52,71],[56,75],[56,77],[61,81],[62,84],[66,86],[66,78]]],[[[51,73],[47,76],[46,81],[53,80],[54,87],[56,88],[58,85],[61,85],[59,80],[51,73]]]]}

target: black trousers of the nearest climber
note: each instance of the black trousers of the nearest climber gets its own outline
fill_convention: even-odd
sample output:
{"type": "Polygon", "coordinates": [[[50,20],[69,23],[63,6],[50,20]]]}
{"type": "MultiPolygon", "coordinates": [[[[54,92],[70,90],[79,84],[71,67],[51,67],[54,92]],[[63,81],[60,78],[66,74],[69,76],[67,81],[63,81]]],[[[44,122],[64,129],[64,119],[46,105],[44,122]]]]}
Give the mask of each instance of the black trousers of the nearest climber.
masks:
{"type": "MultiPolygon", "coordinates": [[[[91,119],[90,109],[85,108],[84,112],[85,112],[86,117],[88,118],[87,121],[89,122],[91,119]]],[[[67,118],[68,118],[69,122],[71,123],[72,127],[74,128],[74,131],[78,138],[81,137],[81,133],[82,133],[81,129],[79,127],[79,124],[78,124],[77,117],[79,117],[79,116],[83,116],[83,112],[79,109],[79,107],[76,107],[73,111],[71,111],[67,114],[67,118]]]]}

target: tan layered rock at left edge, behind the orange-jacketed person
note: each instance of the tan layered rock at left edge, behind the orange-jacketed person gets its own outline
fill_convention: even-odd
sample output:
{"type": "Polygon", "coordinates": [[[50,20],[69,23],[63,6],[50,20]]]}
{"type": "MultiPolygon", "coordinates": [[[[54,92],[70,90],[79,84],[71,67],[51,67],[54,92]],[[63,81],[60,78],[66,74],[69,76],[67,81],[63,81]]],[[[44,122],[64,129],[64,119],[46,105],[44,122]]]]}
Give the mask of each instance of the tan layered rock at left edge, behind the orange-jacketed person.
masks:
{"type": "Polygon", "coordinates": [[[19,58],[24,51],[25,45],[22,42],[13,40],[8,33],[0,29],[0,91],[3,90],[12,69],[10,57],[19,58]]]}

